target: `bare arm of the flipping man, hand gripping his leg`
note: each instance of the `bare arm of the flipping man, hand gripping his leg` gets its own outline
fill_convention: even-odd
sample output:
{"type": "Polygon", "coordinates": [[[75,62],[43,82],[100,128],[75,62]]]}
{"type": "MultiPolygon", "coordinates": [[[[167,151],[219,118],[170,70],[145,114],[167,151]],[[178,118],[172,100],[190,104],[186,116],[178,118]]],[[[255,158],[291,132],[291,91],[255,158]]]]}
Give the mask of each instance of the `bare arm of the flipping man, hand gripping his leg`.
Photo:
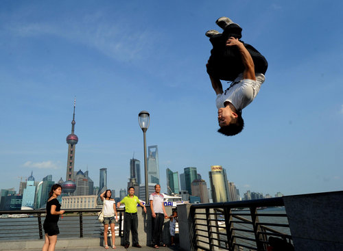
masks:
{"type": "Polygon", "coordinates": [[[231,37],[226,41],[226,46],[237,46],[237,48],[239,49],[239,52],[241,53],[241,60],[244,64],[243,79],[256,80],[254,61],[252,61],[252,57],[246,47],[244,47],[244,44],[237,38],[231,37]]]}

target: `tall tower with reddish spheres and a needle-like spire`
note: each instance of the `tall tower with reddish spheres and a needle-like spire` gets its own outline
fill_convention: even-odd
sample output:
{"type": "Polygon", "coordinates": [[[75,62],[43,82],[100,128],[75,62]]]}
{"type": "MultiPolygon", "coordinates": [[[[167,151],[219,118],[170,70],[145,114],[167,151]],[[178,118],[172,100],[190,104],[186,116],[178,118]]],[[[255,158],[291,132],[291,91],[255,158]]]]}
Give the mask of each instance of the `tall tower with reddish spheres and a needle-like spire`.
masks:
{"type": "Polygon", "coordinates": [[[67,157],[67,175],[66,181],[63,183],[63,193],[65,194],[73,194],[76,189],[76,184],[74,181],[74,162],[75,162],[75,145],[78,144],[78,136],[74,134],[74,127],[75,127],[75,106],[76,106],[76,98],[74,99],[74,112],[73,112],[73,120],[71,121],[71,134],[67,136],[67,144],[68,144],[68,157],[67,157]]]}

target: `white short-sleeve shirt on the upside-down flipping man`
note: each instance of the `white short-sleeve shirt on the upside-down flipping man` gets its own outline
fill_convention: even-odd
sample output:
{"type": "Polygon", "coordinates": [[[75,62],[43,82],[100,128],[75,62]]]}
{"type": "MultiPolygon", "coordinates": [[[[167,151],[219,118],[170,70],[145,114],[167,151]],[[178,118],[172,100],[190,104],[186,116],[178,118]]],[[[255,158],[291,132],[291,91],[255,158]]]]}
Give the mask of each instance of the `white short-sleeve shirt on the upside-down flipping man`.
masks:
{"type": "Polygon", "coordinates": [[[230,88],[226,89],[222,94],[217,95],[215,104],[217,109],[223,108],[226,101],[241,111],[249,105],[259,93],[265,77],[262,73],[257,73],[256,80],[243,79],[243,75],[239,75],[230,88]]]}

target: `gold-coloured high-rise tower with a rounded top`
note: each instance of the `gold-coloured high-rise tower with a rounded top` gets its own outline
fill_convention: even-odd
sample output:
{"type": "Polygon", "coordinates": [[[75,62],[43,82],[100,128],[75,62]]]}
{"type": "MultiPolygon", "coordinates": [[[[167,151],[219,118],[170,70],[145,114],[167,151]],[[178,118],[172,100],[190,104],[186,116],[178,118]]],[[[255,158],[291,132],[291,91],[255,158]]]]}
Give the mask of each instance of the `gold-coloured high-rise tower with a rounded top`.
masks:
{"type": "Polygon", "coordinates": [[[222,166],[211,166],[209,179],[211,184],[213,202],[229,201],[228,179],[226,178],[226,170],[222,168],[222,166]]]}

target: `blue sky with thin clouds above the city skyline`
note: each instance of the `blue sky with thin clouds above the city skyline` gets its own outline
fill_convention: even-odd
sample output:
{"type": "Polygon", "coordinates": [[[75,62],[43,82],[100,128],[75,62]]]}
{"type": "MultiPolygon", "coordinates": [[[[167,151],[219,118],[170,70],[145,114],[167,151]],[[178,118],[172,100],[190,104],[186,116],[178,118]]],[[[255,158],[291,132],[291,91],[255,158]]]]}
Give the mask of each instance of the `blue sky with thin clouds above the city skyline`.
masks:
{"type": "MultiPolygon", "coordinates": [[[[75,170],[125,188],[147,145],[165,169],[226,168],[274,196],[343,188],[341,1],[1,1],[0,188],[20,177],[65,179],[76,96],[75,170]],[[235,137],[217,130],[204,36],[229,16],[268,60],[266,80],[235,137]]],[[[223,83],[224,86],[227,83],[223,83]]]]}

